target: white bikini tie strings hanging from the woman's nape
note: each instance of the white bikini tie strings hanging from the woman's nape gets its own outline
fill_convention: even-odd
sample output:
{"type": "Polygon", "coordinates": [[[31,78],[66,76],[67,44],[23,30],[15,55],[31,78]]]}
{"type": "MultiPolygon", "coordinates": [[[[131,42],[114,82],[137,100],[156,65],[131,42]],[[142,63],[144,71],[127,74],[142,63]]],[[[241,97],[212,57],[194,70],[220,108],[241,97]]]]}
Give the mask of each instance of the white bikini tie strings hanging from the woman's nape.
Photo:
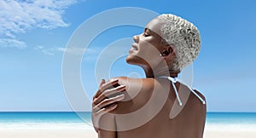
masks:
{"type": "MultiPolygon", "coordinates": [[[[182,101],[180,100],[180,98],[179,98],[179,95],[178,95],[178,93],[177,93],[177,88],[176,88],[176,86],[175,86],[175,84],[174,83],[176,83],[178,80],[177,80],[177,78],[171,78],[171,77],[166,77],[166,76],[161,76],[160,78],[168,78],[171,82],[172,82],[172,87],[173,87],[173,89],[174,89],[174,91],[175,91],[175,94],[176,94],[176,96],[177,96],[177,101],[178,101],[178,103],[179,103],[179,106],[183,106],[183,103],[182,103],[182,101]]],[[[186,85],[187,86],[187,85],[186,85]]],[[[201,98],[201,96],[200,95],[197,95],[196,93],[195,93],[195,91],[193,90],[193,89],[191,89],[189,86],[187,86],[189,89],[190,89],[190,91],[202,102],[202,104],[206,104],[206,101],[204,101],[202,98],[201,98]]]]}

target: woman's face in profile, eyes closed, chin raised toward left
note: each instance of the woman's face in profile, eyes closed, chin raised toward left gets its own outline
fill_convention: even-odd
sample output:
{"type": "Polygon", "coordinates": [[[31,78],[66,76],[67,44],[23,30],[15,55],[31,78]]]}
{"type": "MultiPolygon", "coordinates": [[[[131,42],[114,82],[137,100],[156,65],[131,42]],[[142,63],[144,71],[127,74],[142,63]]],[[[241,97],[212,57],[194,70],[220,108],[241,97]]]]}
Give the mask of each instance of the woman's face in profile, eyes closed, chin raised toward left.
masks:
{"type": "Polygon", "coordinates": [[[163,49],[160,37],[160,26],[162,22],[154,18],[145,26],[142,34],[133,37],[129,55],[126,62],[138,66],[150,66],[154,68],[162,60],[160,51],[163,49]]]}

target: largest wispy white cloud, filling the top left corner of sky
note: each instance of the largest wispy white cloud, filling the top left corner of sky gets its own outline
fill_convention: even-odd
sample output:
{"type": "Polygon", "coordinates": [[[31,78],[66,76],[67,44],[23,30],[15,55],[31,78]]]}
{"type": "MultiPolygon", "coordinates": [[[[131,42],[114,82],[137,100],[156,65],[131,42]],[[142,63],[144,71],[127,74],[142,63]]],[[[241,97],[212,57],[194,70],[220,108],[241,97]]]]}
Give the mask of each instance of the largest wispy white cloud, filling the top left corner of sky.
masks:
{"type": "Polygon", "coordinates": [[[65,27],[63,9],[76,3],[75,0],[26,0],[0,1],[0,34],[15,37],[15,33],[29,29],[65,27]]]}

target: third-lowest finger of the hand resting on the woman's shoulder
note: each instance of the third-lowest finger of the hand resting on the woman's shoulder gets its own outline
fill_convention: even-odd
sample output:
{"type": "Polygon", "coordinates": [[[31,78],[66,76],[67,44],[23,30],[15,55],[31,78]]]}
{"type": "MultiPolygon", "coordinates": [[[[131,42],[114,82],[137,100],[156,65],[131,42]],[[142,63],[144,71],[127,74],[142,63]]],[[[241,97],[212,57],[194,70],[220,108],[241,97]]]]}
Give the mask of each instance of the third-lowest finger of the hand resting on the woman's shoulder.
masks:
{"type": "Polygon", "coordinates": [[[99,102],[103,101],[105,98],[109,97],[110,95],[115,95],[121,91],[125,90],[125,85],[120,85],[116,88],[113,89],[107,89],[105,91],[102,92],[101,95],[99,95],[94,101],[93,104],[98,104],[99,102]]]}

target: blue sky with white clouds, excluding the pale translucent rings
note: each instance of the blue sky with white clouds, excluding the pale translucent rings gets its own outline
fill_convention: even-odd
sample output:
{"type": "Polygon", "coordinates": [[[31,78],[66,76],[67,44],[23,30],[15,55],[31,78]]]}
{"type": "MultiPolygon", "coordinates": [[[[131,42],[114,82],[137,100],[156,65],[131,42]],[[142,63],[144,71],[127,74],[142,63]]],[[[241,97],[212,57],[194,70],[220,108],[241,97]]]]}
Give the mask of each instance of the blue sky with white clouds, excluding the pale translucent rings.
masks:
{"type": "MultiPolygon", "coordinates": [[[[199,28],[202,45],[194,63],[193,86],[206,95],[209,112],[256,112],[255,5],[253,0],[0,0],[0,111],[71,111],[61,81],[69,38],[85,20],[104,10],[139,7],[177,14],[199,28]]],[[[90,55],[140,32],[143,28],[137,26],[114,27],[90,43],[92,60],[84,57],[81,65],[82,82],[90,97],[97,89],[96,57],[90,55]]],[[[130,72],[143,77],[143,71],[127,65],[123,57],[110,75],[130,72]]]]}

